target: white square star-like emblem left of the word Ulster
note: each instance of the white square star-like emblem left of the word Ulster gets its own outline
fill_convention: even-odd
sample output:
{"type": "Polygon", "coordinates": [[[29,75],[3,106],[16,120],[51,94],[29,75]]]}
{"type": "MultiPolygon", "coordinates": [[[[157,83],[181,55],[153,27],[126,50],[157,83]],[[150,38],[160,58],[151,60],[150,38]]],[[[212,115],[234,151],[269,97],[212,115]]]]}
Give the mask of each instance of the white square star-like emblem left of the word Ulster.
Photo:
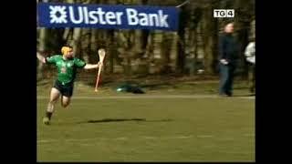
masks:
{"type": "Polygon", "coordinates": [[[60,6],[60,5],[50,5],[49,6],[49,17],[50,17],[50,23],[51,24],[67,24],[67,11],[66,6],[60,6]]]}

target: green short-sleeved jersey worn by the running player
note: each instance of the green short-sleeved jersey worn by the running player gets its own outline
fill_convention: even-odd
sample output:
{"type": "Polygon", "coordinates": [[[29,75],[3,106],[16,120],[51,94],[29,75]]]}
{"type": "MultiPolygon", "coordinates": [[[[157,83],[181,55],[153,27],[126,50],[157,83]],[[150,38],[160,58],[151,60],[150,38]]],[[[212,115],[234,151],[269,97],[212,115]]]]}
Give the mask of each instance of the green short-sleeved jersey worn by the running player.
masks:
{"type": "Polygon", "coordinates": [[[76,57],[65,60],[63,56],[56,55],[46,58],[48,64],[54,64],[57,67],[57,80],[62,85],[74,82],[77,68],[85,67],[86,63],[76,57]]]}

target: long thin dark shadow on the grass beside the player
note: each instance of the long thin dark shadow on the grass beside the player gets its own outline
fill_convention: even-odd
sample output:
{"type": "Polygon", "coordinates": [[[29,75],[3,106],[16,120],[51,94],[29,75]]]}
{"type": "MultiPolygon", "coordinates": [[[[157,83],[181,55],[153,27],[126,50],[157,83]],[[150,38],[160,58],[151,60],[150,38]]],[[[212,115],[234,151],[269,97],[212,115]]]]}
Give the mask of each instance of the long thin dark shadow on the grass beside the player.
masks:
{"type": "Polygon", "coordinates": [[[88,121],[78,122],[78,124],[122,122],[122,121],[167,122],[167,121],[172,121],[172,119],[146,120],[145,118],[104,118],[104,119],[90,119],[88,121]]]}

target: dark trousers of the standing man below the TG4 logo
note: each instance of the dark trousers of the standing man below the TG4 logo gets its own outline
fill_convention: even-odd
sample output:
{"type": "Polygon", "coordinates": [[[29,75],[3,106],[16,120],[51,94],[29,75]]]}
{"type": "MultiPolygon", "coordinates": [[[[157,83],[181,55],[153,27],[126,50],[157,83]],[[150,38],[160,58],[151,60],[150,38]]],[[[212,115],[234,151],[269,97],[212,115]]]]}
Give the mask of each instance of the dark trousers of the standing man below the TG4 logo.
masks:
{"type": "Polygon", "coordinates": [[[232,96],[233,83],[235,77],[235,66],[234,65],[223,65],[219,64],[220,68],[220,84],[219,94],[232,96]]]}

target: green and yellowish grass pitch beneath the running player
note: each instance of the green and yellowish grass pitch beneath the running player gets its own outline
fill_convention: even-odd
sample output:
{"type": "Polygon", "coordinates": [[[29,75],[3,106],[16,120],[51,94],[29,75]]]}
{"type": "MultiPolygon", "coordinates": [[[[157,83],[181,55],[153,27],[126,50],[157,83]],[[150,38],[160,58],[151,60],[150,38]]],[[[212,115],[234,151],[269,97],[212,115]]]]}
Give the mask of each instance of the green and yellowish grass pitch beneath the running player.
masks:
{"type": "MultiPolygon", "coordinates": [[[[49,87],[38,87],[37,161],[255,161],[255,99],[186,86],[141,96],[77,87],[50,126],[42,124],[49,87]],[[175,93],[190,97],[165,96],[175,93]]],[[[243,86],[235,94],[245,95],[243,86]]]]}

